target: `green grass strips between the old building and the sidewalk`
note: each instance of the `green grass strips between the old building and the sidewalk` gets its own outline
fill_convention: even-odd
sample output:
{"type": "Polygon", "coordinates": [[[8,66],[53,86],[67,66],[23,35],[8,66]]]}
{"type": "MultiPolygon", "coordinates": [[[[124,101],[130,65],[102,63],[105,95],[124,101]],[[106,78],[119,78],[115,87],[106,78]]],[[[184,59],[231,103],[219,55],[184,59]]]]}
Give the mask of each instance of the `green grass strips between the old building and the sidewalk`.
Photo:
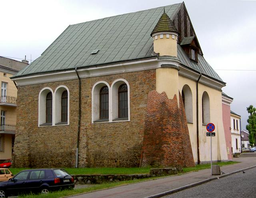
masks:
{"type": "MultiPolygon", "coordinates": [[[[213,163],[214,165],[220,165],[220,166],[225,166],[225,165],[230,165],[230,164],[236,164],[239,162],[217,162],[213,163]]],[[[199,164],[194,167],[189,167],[189,168],[183,168],[182,173],[186,172],[191,172],[191,171],[198,171],[202,169],[208,169],[210,168],[210,164],[199,164]]],[[[21,170],[25,170],[28,168],[10,168],[10,170],[14,173],[17,174],[21,170]]],[[[65,168],[70,174],[142,174],[142,173],[149,173],[150,167],[146,168],[65,168]]],[[[128,180],[128,181],[122,181],[122,182],[112,182],[112,183],[105,183],[105,184],[97,184],[97,185],[92,185],[88,188],[80,188],[80,189],[75,189],[75,190],[62,190],[58,192],[51,192],[49,194],[30,194],[26,196],[19,196],[20,197],[26,197],[26,198],[59,198],[59,197],[64,197],[64,196],[70,196],[74,194],[79,194],[79,193],[84,193],[84,192],[91,192],[94,190],[102,190],[105,188],[112,188],[115,186],[122,186],[126,184],[132,184],[136,182],[143,182],[146,180],[151,180],[151,179],[156,179],[160,177],[152,177],[152,178],[146,178],[146,179],[139,179],[139,180],[128,180]]]]}

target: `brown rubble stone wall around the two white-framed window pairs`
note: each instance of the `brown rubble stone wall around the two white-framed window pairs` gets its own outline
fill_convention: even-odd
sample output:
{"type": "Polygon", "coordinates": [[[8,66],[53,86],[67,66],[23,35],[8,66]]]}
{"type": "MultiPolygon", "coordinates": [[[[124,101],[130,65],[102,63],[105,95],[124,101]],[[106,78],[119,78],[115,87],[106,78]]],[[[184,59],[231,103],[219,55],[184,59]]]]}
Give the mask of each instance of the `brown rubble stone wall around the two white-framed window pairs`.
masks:
{"type": "MultiPolygon", "coordinates": [[[[79,166],[138,166],[148,93],[156,89],[155,70],[81,79],[79,166]],[[92,86],[123,78],[130,85],[130,122],[92,124],[92,86]]],[[[78,126],[78,80],[18,87],[15,167],[74,167],[78,126]],[[44,87],[70,90],[70,125],[38,127],[38,94],[44,87]]]]}

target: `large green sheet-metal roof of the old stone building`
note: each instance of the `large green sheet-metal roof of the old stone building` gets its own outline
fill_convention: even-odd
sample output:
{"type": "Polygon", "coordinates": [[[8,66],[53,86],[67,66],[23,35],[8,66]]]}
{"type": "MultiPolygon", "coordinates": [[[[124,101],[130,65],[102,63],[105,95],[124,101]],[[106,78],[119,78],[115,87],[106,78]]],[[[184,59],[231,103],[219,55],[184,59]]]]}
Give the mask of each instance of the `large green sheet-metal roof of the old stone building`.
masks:
{"type": "MultiPolygon", "coordinates": [[[[70,25],[39,58],[15,77],[156,57],[150,34],[164,8],[173,20],[182,5],[184,3],[70,25]],[[91,54],[94,50],[99,51],[91,54]]],[[[196,63],[178,44],[178,58],[187,68],[224,84],[202,55],[198,55],[196,63]]]]}

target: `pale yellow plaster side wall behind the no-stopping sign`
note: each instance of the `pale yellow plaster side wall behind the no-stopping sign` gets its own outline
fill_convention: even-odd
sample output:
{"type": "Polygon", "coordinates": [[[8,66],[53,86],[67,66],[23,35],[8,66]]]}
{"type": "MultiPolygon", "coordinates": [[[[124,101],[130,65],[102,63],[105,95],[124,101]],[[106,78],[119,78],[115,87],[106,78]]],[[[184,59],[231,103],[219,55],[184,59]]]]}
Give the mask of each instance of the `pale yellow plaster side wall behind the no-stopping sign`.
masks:
{"type": "MultiPolygon", "coordinates": [[[[188,123],[190,142],[194,161],[197,162],[197,140],[196,140],[196,81],[179,76],[179,90],[187,84],[192,91],[193,123],[188,123]]],[[[210,122],[214,123],[216,136],[212,137],[212,160],[228,160],[226,152],[226,141],[224,126],[222,122],[222,95],[216,90],[204,84],[198,84],[198,110],[199,110],[199,153],[200,161],[210,161],[210,137],[206,137],[206,126],[202,125],[202,94],[206,91],[210,98],[210,122]]]]}

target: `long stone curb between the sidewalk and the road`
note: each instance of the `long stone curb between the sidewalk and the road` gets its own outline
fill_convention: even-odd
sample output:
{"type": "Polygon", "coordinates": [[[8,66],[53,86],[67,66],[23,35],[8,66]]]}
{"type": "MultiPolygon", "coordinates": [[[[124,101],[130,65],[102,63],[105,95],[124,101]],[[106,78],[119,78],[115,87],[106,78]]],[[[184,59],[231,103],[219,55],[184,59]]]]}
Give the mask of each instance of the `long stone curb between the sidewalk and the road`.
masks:
{"type": "Polygon", "coordinates": [[[248,169],[251,169],[251,168],[255,168],[256,165],[254,166],[250,166],[248,168],[243,168],[243,169],[240,169],[240,170],[236,170],[236,171],[233,171],[233,172],[229,172],[229,173],[226,173],[226,174],[223,174],[223,175],[220,175],[220,176],[216,176],[216,177],[212,177],[212,178],[209,178],[209,179],[206,179],[206,180],[202,180],[202,181],[199,181],[199,182],[195,182],[195,183],[192,183],[192,184],[188,184],[186,186],[181,186],[181,187],[178,187],[178,188],[174,188],[172,190],[167,190],[167,191],[164,191],[164,192],[160,192],[160,193],[157,193],[157,194],[153,194],[153,195],[150,195],[150,196],[146,196],[146,197],[143,197],[143,198],[160,198],[160,197],[163,197],[163,196],[166,196],[166,195],[169,195],[169,194],[173,194],[175,192],[179,192],[181,190],[185,190],[185,189],[188,189],[188,188],[192,188],[194,186],[199,186],[201,184],[204,184],[206,182],[210,182],[212,180],[217,180],[217,179],[220,179],[220,178],[223,178],[223,177],[226,177],[226,176],[229,176],[229,175],[232,175],[232,174],[236,174],[238,172],[242,172],[244,170],[248,170],[248,169]]]}

